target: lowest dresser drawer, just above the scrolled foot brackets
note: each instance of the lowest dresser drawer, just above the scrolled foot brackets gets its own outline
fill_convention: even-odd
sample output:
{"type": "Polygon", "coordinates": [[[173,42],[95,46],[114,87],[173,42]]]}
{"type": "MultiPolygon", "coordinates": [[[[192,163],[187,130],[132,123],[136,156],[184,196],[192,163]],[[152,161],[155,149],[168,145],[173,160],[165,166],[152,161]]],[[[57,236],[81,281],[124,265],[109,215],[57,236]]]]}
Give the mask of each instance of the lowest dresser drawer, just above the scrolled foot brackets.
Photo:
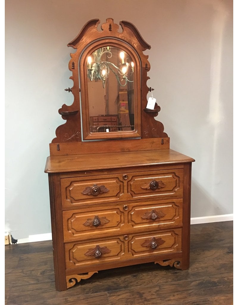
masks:
{"type": "Polygon", "coordinates": [[[180,252],[182,228],[65,243],[66,269],[180,252]]]}

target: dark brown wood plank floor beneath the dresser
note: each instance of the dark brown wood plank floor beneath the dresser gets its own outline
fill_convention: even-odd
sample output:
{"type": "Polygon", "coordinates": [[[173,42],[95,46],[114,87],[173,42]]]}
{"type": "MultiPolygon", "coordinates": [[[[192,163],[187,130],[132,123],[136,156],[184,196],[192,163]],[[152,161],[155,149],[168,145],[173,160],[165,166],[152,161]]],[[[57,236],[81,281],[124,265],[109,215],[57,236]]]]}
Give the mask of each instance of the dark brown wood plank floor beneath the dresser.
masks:
{"type": "Polygon", "coordinates": [[[191,225],[189,270],[149,263],[99,271],[56,291],[52,242],[5,246],[5,304],[231,305],[233,221],[191,225]]]}

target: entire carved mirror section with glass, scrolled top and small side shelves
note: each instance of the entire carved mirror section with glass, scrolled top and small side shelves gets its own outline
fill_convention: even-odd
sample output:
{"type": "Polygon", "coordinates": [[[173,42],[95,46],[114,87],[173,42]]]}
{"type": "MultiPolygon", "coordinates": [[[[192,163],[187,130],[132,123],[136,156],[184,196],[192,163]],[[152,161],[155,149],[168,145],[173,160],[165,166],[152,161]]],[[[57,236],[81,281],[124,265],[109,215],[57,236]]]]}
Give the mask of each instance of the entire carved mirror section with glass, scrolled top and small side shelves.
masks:
{"type": "Polygon", "coordinates": [[[99,19],[87,22],[68,46],[73,104],[59,113],[66,123],[56,129],[52,143],[116,138],[168,137],[155,120],[160,107],[147,109],[147,72],[150,49],[137,28],[128,21],[119,25],[108,18],[98,30],[99,19]]]}

